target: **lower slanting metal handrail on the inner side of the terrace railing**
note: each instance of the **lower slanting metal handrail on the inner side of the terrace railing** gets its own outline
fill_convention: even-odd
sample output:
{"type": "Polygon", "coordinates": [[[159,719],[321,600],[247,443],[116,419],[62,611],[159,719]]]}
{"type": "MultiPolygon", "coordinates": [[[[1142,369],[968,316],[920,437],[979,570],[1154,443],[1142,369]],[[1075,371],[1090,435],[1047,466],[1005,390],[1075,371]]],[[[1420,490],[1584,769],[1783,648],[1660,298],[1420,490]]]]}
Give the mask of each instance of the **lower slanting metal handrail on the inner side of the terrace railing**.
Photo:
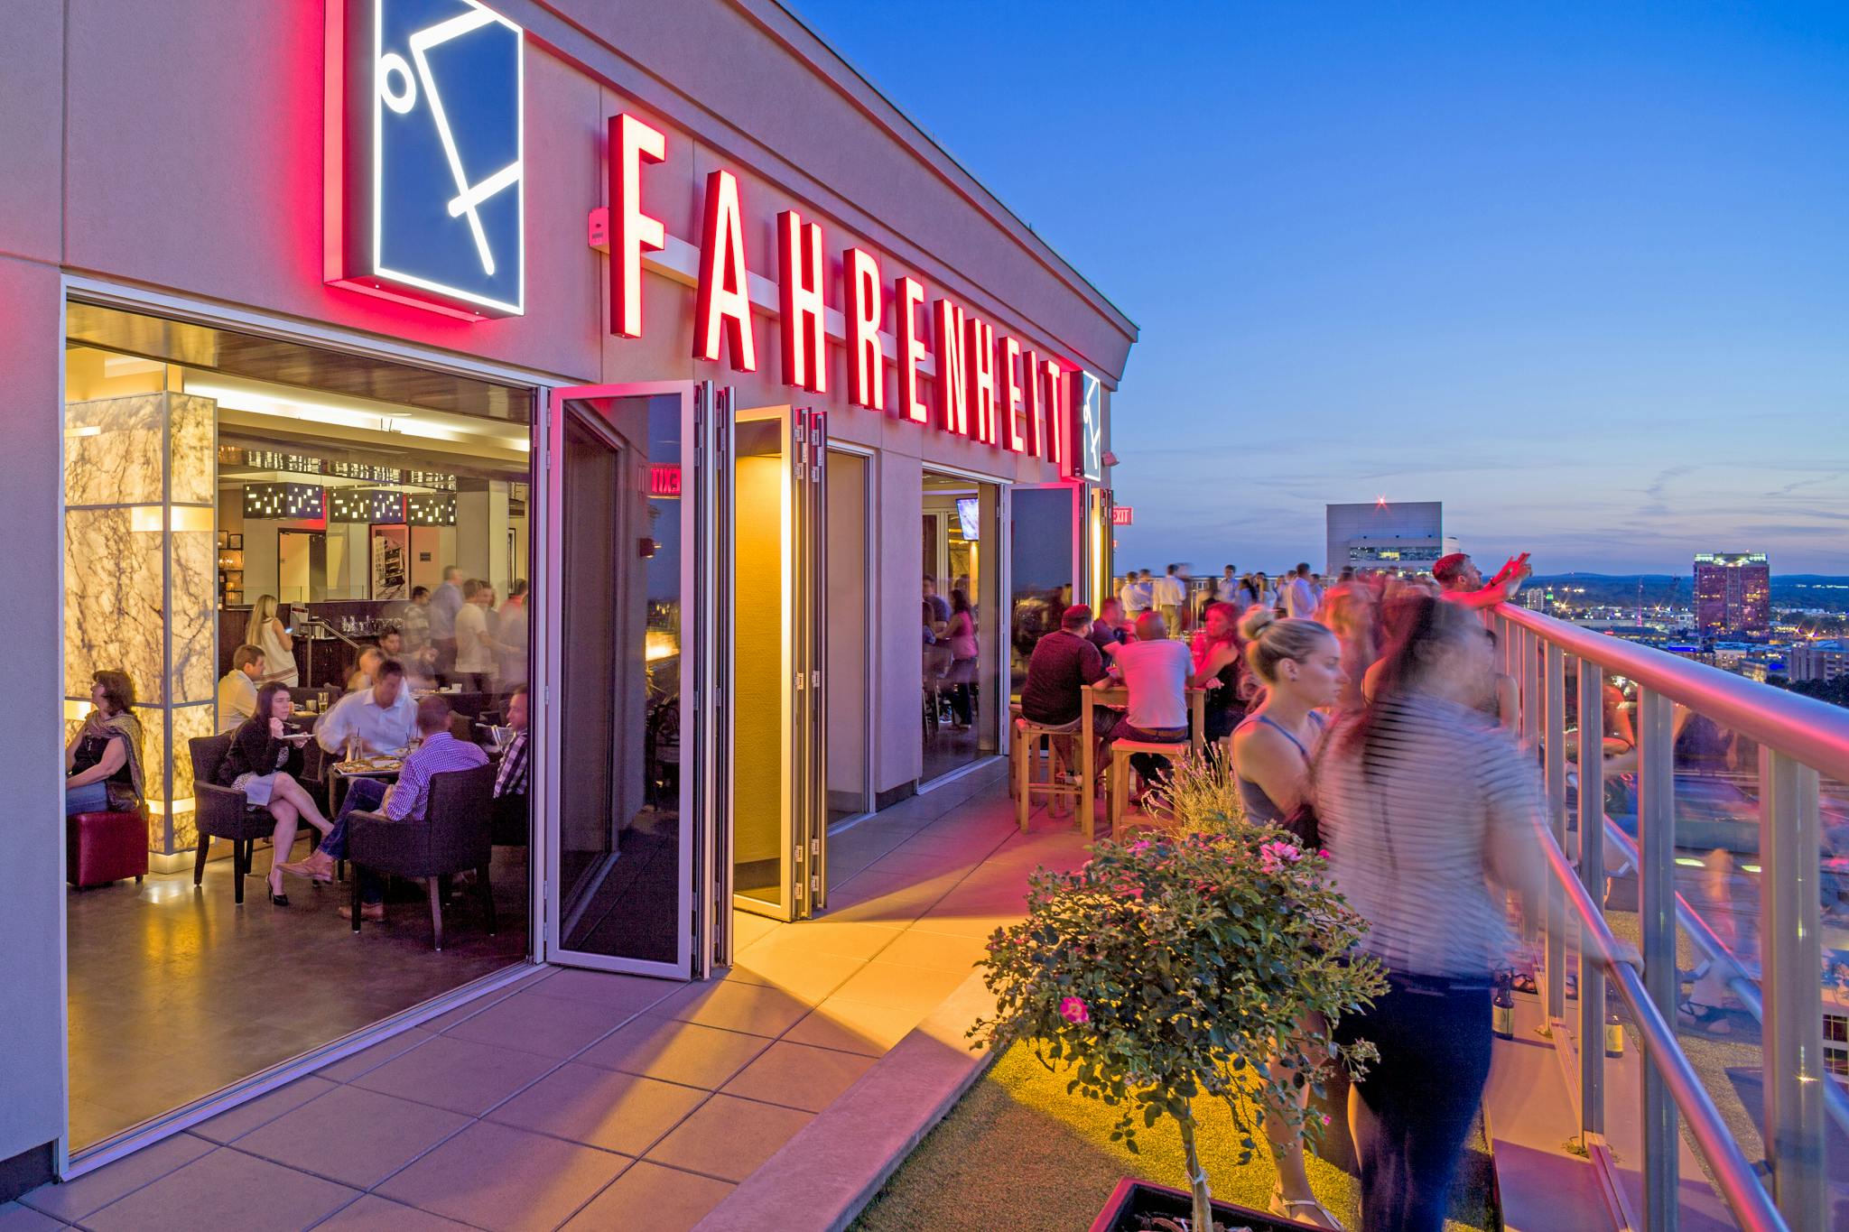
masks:
{"type": "MultiPolygon", "coordinates": [[[[1644,1036],[1646,1064],[1655,1066],[1657,1073],[1662,1075],[1664,1084],[1670,1088],[1670,1097],[1675,1099],[1675,1106],[1688,1121],[1688,1134],[1696,1140],[1701,1158],[1707,1160],[1708,1169],[1714,1173],[1714,1184],[1733,1210],[1734,1219],[1747,1232],[1788,1232],[1788,1225],[1773,1204],[1771,1195],[1758,1184],[1753,1166],[1740,1153],[1740,1143],[1733,1140],[1733,1134],[1721,1123],[1720,1108],[1714,1106],[1714,1099],[1701,1086],[1694,1066],[1688,1064],[1675,1031],[1662,1020],[1657,1003],[1644,990],[1642,975],[1629,962],[1620,962],[1612,957],[1618,953],[1618,938],[1605,925],[1603,912],[1594,905],[1573,866],[1568,864],[1561,844],[1553,840],[1553,835],[1548,835],[1544,846],[1548,852],[1548,868],[1553,879],[1564,888],[1566,900],[1573,905],[1581,933],[1596,940],[1599,966],[1618,984],[1618,996],[1623,997],[1638,1034],[1644,1036]]],[[[1581,1040],[1579,1047],[1599,1047],[1599,1040],[1581,1040]]]]}

